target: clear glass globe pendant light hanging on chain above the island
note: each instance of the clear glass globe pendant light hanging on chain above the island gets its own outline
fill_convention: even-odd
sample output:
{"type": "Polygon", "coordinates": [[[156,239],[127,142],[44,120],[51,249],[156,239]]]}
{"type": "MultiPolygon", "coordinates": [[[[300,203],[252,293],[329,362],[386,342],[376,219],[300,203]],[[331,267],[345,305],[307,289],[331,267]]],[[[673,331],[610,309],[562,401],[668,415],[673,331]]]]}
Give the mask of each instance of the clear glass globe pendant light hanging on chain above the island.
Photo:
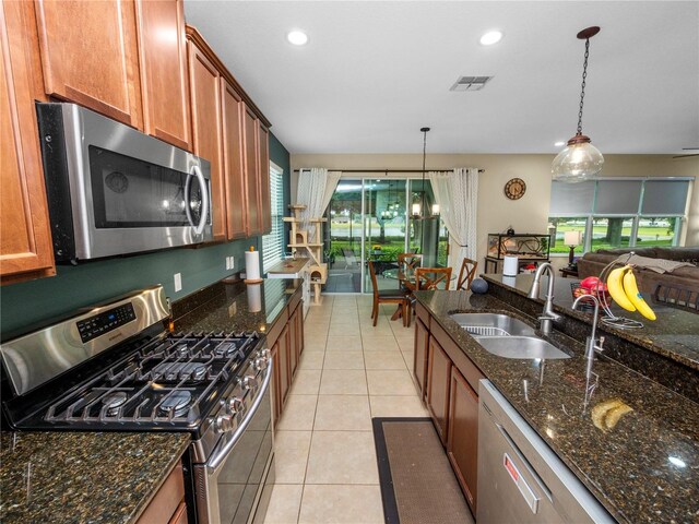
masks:
{"type": "Polygon", "coordinates": [[[582,90],[580,93],[580,110],[578,111],[578,132],[568,141],[564,151],[558,153],[552,165],[554,180],[560,182],[583,182],[592,179],[602,170],[604,157],[600,150],[590,143],[590,138],[582,134],[582,104],[585,97],[585,80],[588,78],[588,57],[590,56],[590,38],[600,33],[593,26],[578,33],[578,38],[585,40],[585,59],[582,67],[582,90]]]}

